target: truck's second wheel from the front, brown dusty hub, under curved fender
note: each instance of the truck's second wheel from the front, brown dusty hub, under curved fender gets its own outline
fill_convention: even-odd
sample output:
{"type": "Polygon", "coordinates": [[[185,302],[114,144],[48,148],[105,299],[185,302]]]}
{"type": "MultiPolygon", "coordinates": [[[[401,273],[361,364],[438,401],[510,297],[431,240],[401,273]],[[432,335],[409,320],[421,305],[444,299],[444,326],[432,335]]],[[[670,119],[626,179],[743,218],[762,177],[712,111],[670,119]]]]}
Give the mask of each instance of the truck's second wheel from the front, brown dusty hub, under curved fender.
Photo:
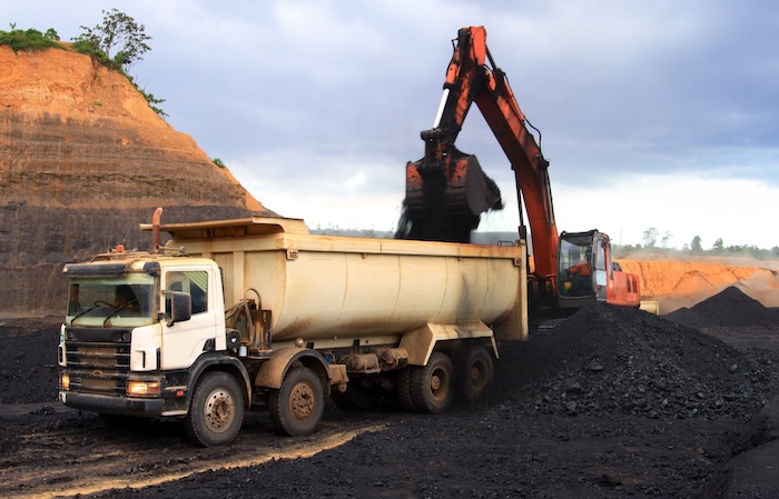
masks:
{"type": "Polygon", "coordinates": [[[294,368],[287,372],[282,388],[270,391],[268,412],[279,433],[300,437],[319,425],[324,402],[319,377],[308,368],[294,368]]]}

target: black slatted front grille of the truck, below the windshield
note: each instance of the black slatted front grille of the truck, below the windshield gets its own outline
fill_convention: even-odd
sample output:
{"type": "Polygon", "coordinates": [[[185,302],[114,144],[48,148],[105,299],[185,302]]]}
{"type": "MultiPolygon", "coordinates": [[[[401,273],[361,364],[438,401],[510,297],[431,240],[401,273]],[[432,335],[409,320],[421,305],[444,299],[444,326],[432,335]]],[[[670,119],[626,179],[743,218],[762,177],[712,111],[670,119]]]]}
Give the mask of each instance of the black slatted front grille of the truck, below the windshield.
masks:
{"type": "Polygon", "coordinates": [[[66,327],[65,332],[70,390],[124,396],[130,371],[130,330],[66,327]]]}

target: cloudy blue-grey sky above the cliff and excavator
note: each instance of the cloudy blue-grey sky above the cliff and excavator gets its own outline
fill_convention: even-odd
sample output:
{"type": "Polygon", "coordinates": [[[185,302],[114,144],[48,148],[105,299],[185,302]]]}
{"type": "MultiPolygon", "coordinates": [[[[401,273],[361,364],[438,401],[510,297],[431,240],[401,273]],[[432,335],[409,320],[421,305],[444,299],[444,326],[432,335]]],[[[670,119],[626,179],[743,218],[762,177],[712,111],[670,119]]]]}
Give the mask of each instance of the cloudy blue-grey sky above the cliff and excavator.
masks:
{"type": "MultiPolygon", "coordinates": [[[[776,1],[30,0],[0,29],[70,40],[111,8],[151,37],[129,73],[167,121],[310,228],[395,228],[452,39],[484,26],[541,131],[560,231],[779,246],[776,1]]],[[[513,172],[475,106],[456,146],[503,193],[480,230],[515,231],[513,172]]]]}

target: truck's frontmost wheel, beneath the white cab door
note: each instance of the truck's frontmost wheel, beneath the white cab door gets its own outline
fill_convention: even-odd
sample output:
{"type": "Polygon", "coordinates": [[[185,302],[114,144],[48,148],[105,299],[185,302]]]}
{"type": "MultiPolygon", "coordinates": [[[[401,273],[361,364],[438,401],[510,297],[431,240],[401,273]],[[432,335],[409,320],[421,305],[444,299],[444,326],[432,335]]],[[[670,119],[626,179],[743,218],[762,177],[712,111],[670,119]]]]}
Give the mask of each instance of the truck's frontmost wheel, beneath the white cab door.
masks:
{"type": "Polygon", "coordinates": [[[207,372],[193,393],[184,429],[203,447],[225,446],[238,436],[244,422],[244,396],[238,382],[226,372],[207,372]]]}

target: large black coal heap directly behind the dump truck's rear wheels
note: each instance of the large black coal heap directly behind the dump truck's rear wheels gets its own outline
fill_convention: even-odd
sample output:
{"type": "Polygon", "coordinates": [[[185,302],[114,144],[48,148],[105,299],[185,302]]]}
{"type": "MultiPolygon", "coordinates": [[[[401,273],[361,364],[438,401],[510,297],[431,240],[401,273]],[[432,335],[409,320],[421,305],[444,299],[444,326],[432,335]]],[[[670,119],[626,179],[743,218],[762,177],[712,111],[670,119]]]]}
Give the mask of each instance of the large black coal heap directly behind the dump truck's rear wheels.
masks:
{"type": "Polygon", "coordinates": [[[756,362],[698,330],[607,305],[509,348],[497,369],[496,379],[515,381],[493,401],[542,415],[748,419],[779,385],[770,358],[756,362]]]}

